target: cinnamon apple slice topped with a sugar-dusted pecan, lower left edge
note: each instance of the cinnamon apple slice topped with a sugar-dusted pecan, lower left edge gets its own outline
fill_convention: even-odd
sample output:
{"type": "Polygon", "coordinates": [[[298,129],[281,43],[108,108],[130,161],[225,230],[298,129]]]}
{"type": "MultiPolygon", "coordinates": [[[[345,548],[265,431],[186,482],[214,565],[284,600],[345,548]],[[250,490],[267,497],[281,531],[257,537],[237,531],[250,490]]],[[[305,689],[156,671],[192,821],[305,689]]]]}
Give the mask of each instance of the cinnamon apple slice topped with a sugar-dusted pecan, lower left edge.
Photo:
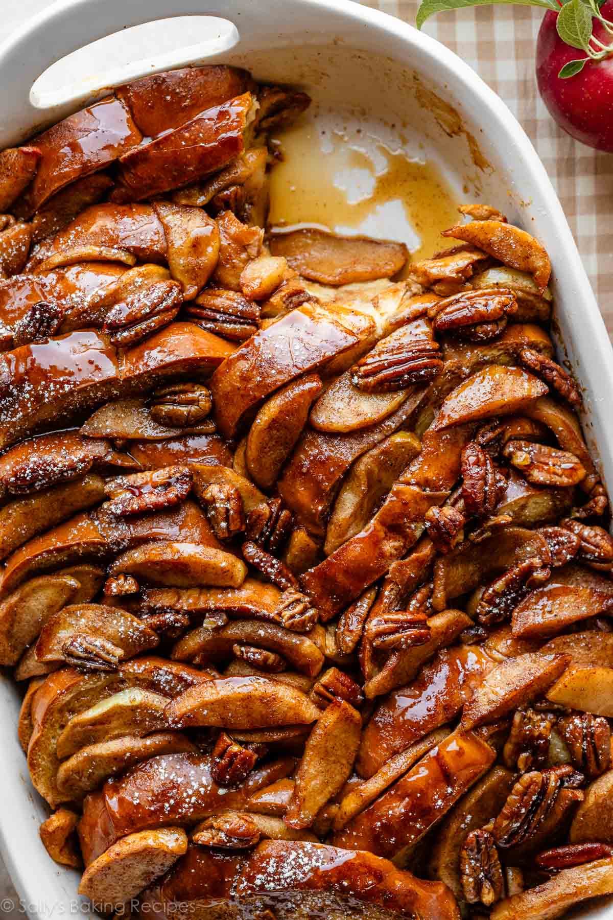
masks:
{"type": "Polygon", "coordinates": [[[38,661],[69,661],[112,670],[154,649],[159,638],[137,617],[106,604],[70,604],[47,619],[36,643],[38,661]],[[103,641],[101,641],[103,640],[103,641]],[[112,646],[112,649],[110,648],[112,646]]]}

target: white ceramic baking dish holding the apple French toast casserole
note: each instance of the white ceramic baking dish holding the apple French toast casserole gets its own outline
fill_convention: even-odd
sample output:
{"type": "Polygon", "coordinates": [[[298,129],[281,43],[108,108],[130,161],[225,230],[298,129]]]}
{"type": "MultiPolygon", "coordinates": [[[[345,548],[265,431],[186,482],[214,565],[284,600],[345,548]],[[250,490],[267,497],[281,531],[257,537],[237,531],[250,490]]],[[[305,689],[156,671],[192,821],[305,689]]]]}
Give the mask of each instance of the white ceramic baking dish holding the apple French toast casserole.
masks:
{"type": "MultiPolygon", "coordinates": [[[[493,204],[539,237],[553,264],[557,344],[582,385],[585,433],[613,490],[613,351],[562,207],[504,103],[436,40],[349,0],[61,0],[0,47],[0,145],[24,140],[91,98],[96,77],[90,70],[86,78],[74,75],[72,101],[64,95],[61,106],[36,108],[30,88],[51,63],[118,29],[203,14],[224,17],[236,27],[213,43],[218,50],[207,55],[207,62],[235,63],[256,79],[303,86],[321,110],[334,109],[366,130],[369,125],[378,132],[390,130],[394,143],[411,150],[421,145],[464,190],[466,200],[478,197],[493,204]]],[[[153,66],[134,63],[147,53],[136,47],[131,66],[115,71],[113,82],[168,66],[167,59],[153,66]]],[[[200,63],[199,53],[192,47],[173,63],[200,63]]],[[[101,81],[102,76],[98,86],[101,81]]],[[[46,811],[29,784],[17,742],[18,706],[17,690],[5,676],[0,684],[0,834],[6,865],[30,916],[85,913],[76,895],[77,873],[55,866],[40,844],[46,811]]],[[[611,916],[613,907],[600,902],[581,914],[588,915],[611,916]]]]}

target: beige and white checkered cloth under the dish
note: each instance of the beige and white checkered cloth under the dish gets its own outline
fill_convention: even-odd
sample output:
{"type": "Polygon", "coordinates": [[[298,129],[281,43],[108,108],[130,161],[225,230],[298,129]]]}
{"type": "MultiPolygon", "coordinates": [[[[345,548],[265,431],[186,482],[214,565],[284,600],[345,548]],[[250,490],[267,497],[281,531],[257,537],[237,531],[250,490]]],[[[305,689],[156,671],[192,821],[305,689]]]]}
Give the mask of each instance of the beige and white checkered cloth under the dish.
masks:
{"type": "MultiPolygon", "coordinates": [[[[365,0],[414,25],[418,0],[365,0]]],[[[539,8],[484,6],[441,13],[424,31],[460,55],[524,127],[562,201],[613,338],[613,154],[573,141],[545,108],[534,73],[539,8]]]]}

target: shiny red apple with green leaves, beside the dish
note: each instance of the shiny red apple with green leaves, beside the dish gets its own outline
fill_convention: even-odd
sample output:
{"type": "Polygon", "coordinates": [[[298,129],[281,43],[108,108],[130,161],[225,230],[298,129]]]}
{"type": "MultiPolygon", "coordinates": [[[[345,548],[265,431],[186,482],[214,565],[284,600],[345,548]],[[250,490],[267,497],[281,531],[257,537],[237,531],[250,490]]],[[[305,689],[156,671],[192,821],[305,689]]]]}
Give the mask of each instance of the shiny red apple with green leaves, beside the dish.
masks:
{"type": "MultiPolygon", "coordinates": [[[[603,17],[613,19],[613,0],[600,10],[603,17]]],[[[596,150],[613,153],[613,56],[601,61],[588,61],[574,76],[558,76],[569,61],[585,57],[565,44],[556,31],[557,13],[547,12],[539,30],[537,44],[537,80],[540,95],[552,118],[564,131],[596,150]]],[[[605,44],[611,35],[602,23],[593,20],[594,35],[605,44]]]]}

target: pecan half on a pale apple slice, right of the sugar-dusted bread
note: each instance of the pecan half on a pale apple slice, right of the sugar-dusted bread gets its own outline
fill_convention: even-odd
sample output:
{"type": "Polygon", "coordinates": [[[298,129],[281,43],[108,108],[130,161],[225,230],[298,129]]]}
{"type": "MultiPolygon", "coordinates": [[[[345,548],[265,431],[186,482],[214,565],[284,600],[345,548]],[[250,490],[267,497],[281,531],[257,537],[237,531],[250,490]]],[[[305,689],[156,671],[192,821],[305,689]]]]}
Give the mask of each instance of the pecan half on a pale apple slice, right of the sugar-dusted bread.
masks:
{"type": "Polygon", "coordinates": [[[432,339],[409,339],[387,348],[381,342],[351,371],[351,382],[365,393],[391,393],[437,376],[443,366],[440,346],[432,339]]]}

